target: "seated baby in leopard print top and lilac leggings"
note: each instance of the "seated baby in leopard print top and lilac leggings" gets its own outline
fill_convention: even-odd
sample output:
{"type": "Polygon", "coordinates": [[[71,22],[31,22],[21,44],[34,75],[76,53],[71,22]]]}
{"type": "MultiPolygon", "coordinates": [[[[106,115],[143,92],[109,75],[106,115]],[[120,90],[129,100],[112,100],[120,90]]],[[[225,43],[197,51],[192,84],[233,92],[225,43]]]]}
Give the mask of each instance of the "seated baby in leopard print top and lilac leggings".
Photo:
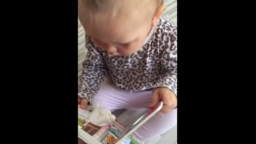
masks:
{"type": "Polygon", "coordinates": [[[78,107],[164,106],[133,136],[145,142],[177,124],[177,26],[161,17],[163,0],[78,0],[86,59],[78,107]]]}

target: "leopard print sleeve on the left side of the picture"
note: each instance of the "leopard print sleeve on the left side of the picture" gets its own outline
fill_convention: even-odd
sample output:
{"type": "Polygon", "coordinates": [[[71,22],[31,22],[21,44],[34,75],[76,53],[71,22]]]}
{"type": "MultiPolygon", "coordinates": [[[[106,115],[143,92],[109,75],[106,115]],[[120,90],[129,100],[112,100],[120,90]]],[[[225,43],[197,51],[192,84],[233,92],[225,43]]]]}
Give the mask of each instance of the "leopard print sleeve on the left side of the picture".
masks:
{"type": "Polygon", "coordinates": [[[85,98],[88,100],[89,105],[92,105],[93,97],[104,81],[106,70],[102,53],[95,48],[87,35],[85,36],[85,44],[88,51],[82,65],[82,74],[79,78],[78,98],[85,98]]]}

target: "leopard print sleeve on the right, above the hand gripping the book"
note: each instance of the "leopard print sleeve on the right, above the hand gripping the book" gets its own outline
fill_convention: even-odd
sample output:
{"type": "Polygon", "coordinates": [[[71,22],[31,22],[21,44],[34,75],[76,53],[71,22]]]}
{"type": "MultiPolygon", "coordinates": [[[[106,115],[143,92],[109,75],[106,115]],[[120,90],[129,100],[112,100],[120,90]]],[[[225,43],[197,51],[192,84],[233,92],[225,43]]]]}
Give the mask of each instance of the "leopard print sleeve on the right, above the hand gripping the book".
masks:
{"type": "Polygon", "coordinates": [[[156,87],[165,87],[177,96],[177,26],[172,23],[171,31],[163,47],[161,68],[163,75],[156,87]]]}

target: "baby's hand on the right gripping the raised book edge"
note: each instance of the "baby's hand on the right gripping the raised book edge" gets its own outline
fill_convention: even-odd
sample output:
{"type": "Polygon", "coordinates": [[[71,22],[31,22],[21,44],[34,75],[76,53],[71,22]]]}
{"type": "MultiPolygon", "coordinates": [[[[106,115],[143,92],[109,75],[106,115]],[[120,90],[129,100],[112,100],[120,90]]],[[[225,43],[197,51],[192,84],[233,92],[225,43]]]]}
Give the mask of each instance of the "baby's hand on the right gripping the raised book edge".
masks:
{"type": "Polygon", "coordinates": [[[164,87],[157,87],[154,90],[151,105],[149,107],[154,107],[160,100],[164,103],[163,108],[160,111],[164,113],[168,113],[177,107],[176,95],[171,90],[164,87]]]}

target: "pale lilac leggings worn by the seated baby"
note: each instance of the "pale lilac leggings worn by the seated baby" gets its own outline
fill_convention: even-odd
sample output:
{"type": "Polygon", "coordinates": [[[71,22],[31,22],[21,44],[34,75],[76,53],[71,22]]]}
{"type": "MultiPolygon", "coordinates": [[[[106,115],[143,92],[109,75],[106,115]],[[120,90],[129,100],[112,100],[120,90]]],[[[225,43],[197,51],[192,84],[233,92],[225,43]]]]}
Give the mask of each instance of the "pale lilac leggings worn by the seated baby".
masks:
{"type": "MultiPolygon", "coordinates": [[[[101,107],[110,111],[123,108],[142,109],[149,108],[151,97],[152,91],[126,92],[114,88],[105,81],[94,97],[94,105],[99,102],[101,107]]],[[[139,127],[133,135],[141,142],[146,142],[170,130],[175,124],[177,124],[177,109],[163,115],[156,114],[139,127]]]]}

